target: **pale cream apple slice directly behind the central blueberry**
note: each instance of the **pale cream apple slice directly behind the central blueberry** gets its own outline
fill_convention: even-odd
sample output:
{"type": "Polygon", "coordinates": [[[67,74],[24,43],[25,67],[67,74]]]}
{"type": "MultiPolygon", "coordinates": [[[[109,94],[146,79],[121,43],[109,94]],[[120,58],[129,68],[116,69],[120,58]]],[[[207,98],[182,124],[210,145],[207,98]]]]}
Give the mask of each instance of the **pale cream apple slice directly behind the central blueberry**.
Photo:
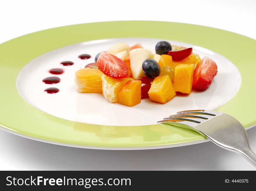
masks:
{"type": "Polygon", "coordinates": [[[145,76],[142,63],[146,59],[154,59],[154,54],[144,48],[136,48],[130,52],[131,73],[134,79],[145,76]]]}

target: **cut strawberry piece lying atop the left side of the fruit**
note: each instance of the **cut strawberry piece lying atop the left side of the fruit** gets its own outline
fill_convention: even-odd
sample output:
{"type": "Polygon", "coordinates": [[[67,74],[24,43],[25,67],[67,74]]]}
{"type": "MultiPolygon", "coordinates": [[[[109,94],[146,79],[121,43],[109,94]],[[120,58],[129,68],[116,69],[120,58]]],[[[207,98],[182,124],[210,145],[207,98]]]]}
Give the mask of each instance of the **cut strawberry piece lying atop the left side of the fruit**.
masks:
{"type": "Polygon", "coordinates": [[[96,65],[100,71],[113,78],[120,79],[128,75],[128,69],[124,61],[108,52],[100,52],[96,65]]]}

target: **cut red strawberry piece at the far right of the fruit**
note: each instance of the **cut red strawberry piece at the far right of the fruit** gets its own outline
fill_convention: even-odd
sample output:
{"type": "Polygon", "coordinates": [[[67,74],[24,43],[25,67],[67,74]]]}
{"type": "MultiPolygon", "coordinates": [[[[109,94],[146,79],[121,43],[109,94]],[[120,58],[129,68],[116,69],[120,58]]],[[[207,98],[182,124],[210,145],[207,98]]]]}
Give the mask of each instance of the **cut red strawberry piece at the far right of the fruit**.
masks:
{"type": "Polygon", "coordinates": [[[198,90],[207,89],[216,74],[216,63],[208,57],[203,57],[194,70],[193,88],[198,90]]]}

